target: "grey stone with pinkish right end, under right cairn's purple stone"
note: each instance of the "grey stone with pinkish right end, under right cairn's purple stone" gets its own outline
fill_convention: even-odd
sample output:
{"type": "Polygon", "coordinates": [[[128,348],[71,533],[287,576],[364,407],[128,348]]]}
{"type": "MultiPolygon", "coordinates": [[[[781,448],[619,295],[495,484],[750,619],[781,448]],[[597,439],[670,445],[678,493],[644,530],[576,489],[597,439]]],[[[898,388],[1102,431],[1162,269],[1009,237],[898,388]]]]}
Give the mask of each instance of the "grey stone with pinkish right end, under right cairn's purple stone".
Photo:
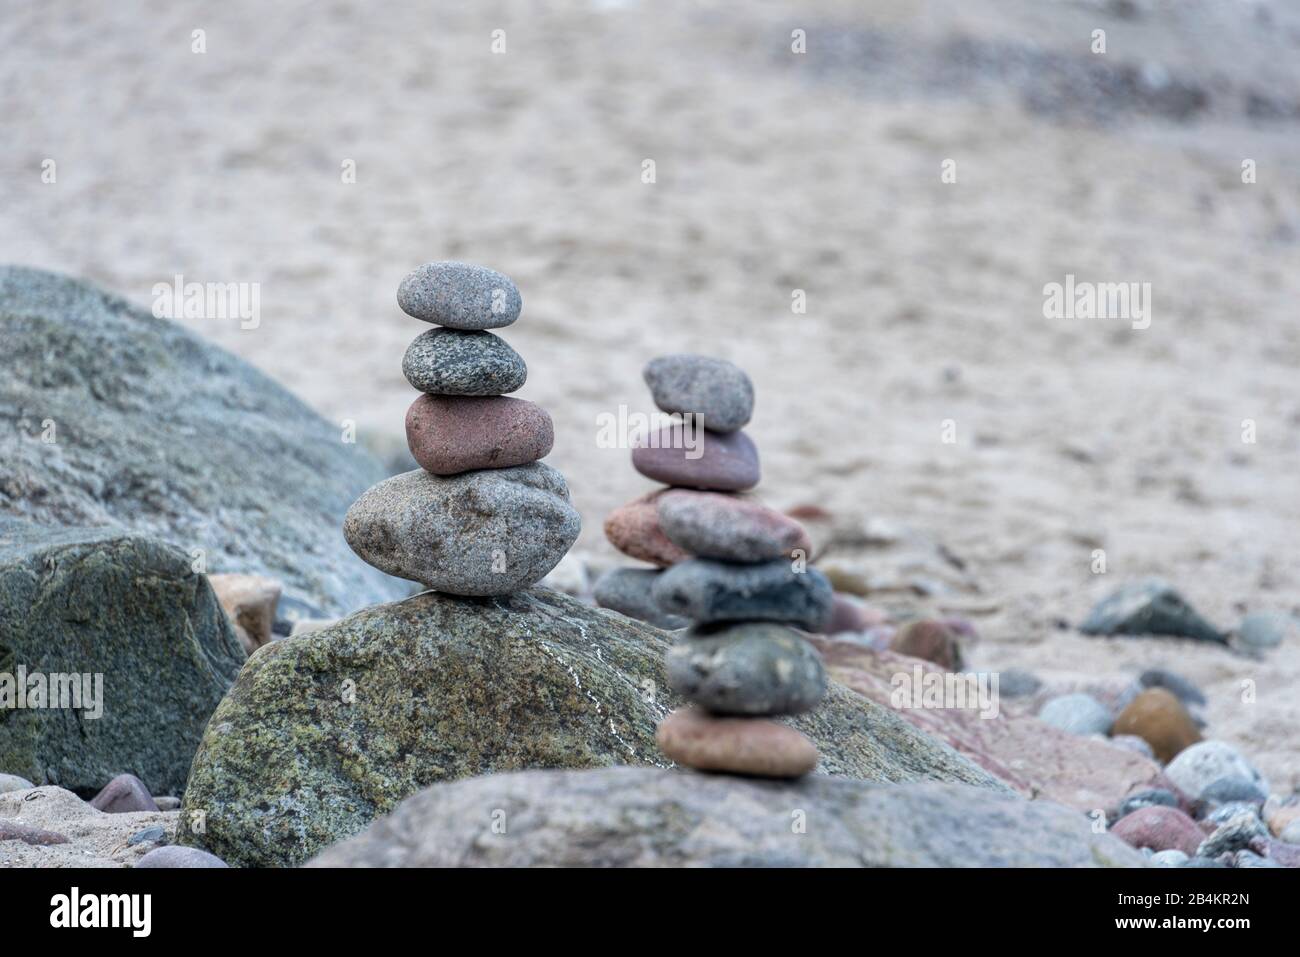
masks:
{"type": "Polygon", "coordinates": [[[685,551],[723,562],[768,562],[812,551],[803,525],[762,502],[718,492],[672,489],[658,499],[663,533],[685,551]]]}

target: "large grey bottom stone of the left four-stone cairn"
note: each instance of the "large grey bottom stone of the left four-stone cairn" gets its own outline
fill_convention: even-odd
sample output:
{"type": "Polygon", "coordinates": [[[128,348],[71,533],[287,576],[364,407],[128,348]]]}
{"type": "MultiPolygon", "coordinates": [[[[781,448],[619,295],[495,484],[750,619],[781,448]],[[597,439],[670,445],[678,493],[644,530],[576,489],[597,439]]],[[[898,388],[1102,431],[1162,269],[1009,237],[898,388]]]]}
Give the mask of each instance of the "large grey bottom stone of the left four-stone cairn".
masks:
{"type": "Polygon", "coordinates": [[[564,476],[541,462],[450,477],[403,472],[367,489],[343,519],[364,562],[463,596],[541,581],[580,529],[564,476]]]}

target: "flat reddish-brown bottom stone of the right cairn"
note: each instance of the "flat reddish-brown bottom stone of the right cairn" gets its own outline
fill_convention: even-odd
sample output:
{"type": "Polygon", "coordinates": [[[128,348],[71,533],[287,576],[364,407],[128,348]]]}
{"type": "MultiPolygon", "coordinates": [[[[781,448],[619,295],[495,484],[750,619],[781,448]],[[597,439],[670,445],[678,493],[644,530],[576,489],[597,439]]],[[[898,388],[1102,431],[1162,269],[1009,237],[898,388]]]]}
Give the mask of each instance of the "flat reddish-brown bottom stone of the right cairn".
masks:
{"type": "Polygon", "coordinates": [[[694,707],[664,718],[655,740],[668,758],[697,771],[802,778],[818,761],[816,746],[794,728],[762,718],[715,718],[694,707]]]}

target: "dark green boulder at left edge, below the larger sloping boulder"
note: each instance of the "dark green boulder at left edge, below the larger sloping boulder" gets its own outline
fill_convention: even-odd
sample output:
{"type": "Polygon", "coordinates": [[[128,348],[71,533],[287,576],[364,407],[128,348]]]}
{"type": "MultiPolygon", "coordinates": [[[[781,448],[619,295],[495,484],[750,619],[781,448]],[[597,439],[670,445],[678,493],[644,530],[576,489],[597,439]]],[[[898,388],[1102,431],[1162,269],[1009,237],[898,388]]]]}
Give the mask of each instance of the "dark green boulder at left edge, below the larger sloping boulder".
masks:
{"type": "Polygon", "coordinates": [[[0,518],[6,772],[83,796],[130,772],[155,794],[179,793],[243,661],[207,579],[178,549],[0,518]]]}

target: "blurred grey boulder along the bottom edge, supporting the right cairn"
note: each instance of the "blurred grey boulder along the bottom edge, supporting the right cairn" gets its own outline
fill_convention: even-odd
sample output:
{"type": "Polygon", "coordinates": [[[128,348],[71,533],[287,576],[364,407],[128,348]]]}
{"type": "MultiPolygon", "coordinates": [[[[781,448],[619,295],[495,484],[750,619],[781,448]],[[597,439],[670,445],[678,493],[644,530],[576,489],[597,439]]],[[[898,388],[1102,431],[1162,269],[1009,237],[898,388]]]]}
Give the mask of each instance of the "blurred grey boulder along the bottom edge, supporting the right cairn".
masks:
{"type": "Polygon", "coordinates": [[[961,784],[615,767],[436,784],[313,867],[1141,867],[1046,801],[961,784]]]}

